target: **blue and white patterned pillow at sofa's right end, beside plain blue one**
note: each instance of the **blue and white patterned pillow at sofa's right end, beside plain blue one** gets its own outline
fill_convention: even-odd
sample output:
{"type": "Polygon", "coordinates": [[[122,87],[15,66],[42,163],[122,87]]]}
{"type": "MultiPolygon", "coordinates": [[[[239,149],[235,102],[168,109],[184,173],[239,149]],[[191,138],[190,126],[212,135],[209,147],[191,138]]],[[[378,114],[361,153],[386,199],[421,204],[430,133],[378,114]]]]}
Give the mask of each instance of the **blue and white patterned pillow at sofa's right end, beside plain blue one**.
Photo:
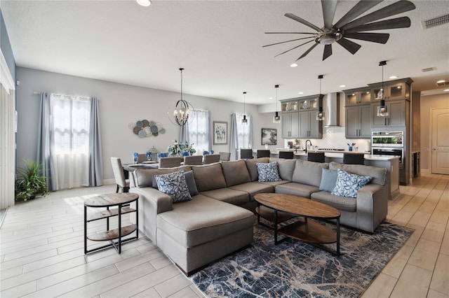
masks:
{"type": "Polygon", "coordinates": [[[338,169],[337,183],[335,183],[334,190],[330,194],[342,197],[357,197],[359,188],[365,186],[370,182],[370,176],[359,176],[353,173],[347,173],[338,169]]]}

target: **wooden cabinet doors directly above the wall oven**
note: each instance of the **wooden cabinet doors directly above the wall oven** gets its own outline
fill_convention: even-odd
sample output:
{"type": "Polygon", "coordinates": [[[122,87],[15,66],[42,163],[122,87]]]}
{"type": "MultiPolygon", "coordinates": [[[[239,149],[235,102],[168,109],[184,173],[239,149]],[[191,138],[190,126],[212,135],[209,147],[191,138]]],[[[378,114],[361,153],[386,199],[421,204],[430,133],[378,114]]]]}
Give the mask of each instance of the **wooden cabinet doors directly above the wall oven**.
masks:
{"type": "Polygon", "coordinates": [[[408,111],[408,101],[385,101],[388,116],[378,117],[377,106],[380,103],[371,104],[371,126],[372,127],[405,127],[407,124],[406,113],[408,111]]]}

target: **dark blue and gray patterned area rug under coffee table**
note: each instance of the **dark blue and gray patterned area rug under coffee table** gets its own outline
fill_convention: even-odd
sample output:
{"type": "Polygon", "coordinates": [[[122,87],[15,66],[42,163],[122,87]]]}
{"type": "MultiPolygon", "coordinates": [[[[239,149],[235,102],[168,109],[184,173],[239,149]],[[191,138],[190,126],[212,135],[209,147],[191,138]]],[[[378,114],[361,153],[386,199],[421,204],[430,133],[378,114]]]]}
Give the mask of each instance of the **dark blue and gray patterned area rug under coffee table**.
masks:
{"type": "Polygon", "coordinates": [[[411,234],[389,222],[373,235],[341,227],[336,257],[294,239],[274,246],[273,231],[255,225],[252,246],[190,278],[206,297],[358,297],[411,234]]]}

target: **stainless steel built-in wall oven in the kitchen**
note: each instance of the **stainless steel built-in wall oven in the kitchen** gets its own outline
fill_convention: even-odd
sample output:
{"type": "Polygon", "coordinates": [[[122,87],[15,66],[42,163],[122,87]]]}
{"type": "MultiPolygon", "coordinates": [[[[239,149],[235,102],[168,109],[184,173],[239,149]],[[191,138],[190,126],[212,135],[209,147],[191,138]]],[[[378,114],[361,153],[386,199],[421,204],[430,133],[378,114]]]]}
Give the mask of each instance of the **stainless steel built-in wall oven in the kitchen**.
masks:
{"type": "Polygon", "coordinates": [[[371,154],[399,157],[399,169],[404,169],[404,132],[372,132],[371,154]]]}

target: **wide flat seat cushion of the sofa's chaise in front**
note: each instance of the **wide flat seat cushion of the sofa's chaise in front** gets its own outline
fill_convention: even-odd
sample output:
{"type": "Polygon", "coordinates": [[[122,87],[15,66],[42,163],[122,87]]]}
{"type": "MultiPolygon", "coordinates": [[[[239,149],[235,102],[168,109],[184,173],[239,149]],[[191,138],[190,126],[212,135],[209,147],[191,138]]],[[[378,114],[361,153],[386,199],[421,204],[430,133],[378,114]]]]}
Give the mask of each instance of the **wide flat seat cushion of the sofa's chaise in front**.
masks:
{"type": "Polygon", "coordinates": [[[186,248],[223,238],[254,224],[254,214],[245,208],[210,199],[201,194],[192,201],[174,204],[160,213],[156,225],[186,248]]]}

